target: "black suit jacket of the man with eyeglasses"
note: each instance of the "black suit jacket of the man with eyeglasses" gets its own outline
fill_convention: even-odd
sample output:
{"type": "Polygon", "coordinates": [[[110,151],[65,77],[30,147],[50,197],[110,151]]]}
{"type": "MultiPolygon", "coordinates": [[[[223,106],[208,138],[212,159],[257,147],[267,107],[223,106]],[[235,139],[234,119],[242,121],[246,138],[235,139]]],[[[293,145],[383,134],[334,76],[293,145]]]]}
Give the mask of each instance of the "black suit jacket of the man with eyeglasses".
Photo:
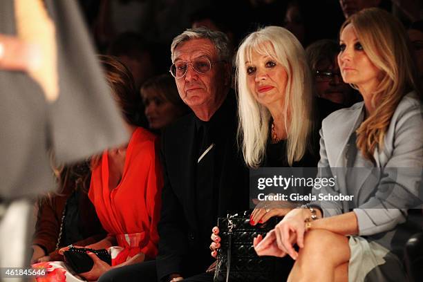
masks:
{"type": "MultiPolygon", "coordinates": [[[[196,116],[186,115],[162,133],[164,188],[158,232],[159,254],[156,258],[158,279],[172,273],[185,278],[205,272],[213,262],[209,245],[214,222],[198,220],[198,205],[215,205],[217,216],[243,211],[249,206],[248,171],[236,147],[236,99],[233,92],[213,115],[216,160],[214,189],[216,203],[196,203],[196,116]]],[[[208,216],[206,217],[208,218],[208,216]]]]}

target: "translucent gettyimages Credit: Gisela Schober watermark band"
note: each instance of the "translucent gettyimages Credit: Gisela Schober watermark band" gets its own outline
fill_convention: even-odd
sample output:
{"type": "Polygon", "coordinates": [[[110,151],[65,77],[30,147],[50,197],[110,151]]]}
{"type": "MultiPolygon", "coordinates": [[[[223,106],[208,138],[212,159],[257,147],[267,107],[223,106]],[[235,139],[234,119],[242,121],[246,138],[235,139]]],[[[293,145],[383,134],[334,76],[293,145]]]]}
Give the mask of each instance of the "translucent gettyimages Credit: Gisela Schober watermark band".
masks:
{"type": "Polygon", "coordinates": [[[281,208],[313,202],[355,207],[357,197],[366,197],[375,203],[368,208],[421,208],[422,175],[421,168],[251,169],[250,207],[257,201],[281,208]]]}

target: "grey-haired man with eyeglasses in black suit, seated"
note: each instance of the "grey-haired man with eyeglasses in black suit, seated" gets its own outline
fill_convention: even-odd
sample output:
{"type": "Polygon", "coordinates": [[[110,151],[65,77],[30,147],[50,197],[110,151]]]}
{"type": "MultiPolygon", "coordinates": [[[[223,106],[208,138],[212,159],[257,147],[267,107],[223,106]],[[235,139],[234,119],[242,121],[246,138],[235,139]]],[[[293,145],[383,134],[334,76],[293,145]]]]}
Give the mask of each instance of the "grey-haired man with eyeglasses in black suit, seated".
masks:
{"type": "Polygon", "coordinates": [[[205,273],[214,260],[209,250],[212,227],[218,217],[249,206],[248,171],[236,147],[232,54],[226,35],[188,29],[173,39],[171,59],[170,73],[193,113],[162,133],[158,256],[111,270],[100,282],[213,281],[213,273],[205,273]]]}

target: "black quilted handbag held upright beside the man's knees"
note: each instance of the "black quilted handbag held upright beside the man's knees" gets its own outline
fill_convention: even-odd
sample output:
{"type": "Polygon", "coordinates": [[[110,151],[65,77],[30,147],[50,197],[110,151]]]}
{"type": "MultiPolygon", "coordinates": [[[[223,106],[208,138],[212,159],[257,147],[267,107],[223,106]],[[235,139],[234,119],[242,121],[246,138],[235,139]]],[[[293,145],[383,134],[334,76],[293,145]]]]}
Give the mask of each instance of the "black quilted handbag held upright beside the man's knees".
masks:
{"type": "Polygon", "coordinates": [[[214,282],[286,281],[293,261],[288,257],[257,256],[253,238],[263,237],[281,220],[270,218],[266,223],[250,225],[250,214],[235,214],[218,218],[220,249],[218,250],[214,282]]]}

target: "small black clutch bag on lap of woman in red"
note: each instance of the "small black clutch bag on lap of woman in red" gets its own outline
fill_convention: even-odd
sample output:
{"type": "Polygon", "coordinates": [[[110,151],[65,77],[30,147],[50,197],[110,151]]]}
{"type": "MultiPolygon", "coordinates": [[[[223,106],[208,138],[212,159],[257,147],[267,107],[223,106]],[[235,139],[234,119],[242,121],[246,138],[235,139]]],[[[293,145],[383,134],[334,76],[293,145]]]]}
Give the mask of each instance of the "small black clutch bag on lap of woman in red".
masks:
{"type": "Polygon", "coordinates": [[[72,270],[76,273],[84,273],[88,272],[93,268],[94,262],[90,256],[86,252],[93,252],[96,254],[102,261],[109,263],[111,265],[111,255],[107,252],[106,249],[102,250],[93,250],[88,249],[85,247],[77,248],[77,247],[69,247],[69,250],[64,252],[64,257],[66,263],[72,268],[72,270]]]}

